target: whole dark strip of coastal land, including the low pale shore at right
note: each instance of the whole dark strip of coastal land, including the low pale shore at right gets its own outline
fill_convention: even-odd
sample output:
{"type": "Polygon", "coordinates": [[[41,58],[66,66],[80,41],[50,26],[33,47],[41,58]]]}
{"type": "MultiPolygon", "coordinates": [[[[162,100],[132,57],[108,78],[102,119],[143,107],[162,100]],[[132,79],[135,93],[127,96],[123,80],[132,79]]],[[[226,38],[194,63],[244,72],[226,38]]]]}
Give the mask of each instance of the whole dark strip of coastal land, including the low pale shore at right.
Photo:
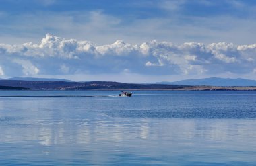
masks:
{"type": "Polygon", "coordinates": [[[173,91],[255,91],[256,87],[220,87],[166,84],[119,83],[110,81],[24,81],[0,80],[1,90],[173,90],[173,91]]]}

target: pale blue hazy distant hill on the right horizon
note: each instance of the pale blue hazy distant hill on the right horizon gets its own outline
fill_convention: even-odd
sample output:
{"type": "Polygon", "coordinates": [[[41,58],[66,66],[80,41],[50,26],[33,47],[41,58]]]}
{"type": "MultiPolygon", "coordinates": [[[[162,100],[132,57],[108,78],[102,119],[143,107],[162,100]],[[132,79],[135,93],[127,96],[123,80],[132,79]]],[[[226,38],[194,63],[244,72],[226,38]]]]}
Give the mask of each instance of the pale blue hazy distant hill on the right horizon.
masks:
{"type": "Polygon", "coordinates": [[[223,78],[206,78],[206,79],[186,79],[182,81],[175,81],[175,82],[162,82],[162,84],[172,84],[172,85],[207,85],[207,86],[223,86],[223,87],[249,87],[249,86],[256,86],[255,80],[250,79],[223,79],[223,78]]]}

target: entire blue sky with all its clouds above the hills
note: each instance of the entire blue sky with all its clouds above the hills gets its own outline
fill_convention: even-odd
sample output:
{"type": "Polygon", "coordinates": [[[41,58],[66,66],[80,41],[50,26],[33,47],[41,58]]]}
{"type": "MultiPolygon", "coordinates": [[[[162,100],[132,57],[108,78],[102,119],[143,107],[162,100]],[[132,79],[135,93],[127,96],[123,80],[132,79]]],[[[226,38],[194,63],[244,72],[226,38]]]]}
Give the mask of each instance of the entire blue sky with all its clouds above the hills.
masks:
{"type": "Polygon", "coordinates": [[[253,0],[1,0],[0,78],[256,79],[253,0]]]}

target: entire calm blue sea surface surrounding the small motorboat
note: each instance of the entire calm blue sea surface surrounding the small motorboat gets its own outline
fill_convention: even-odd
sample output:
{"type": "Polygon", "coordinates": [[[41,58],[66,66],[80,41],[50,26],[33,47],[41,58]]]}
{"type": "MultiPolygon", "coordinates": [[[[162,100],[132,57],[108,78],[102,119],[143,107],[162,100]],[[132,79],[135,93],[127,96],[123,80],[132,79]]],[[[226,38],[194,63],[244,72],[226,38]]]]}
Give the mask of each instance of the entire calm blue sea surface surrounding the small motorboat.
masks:
{"type": "Polygon", "coordinates": [[[0,91],[0,165],[256,165],[256,91],[0,91]]]}

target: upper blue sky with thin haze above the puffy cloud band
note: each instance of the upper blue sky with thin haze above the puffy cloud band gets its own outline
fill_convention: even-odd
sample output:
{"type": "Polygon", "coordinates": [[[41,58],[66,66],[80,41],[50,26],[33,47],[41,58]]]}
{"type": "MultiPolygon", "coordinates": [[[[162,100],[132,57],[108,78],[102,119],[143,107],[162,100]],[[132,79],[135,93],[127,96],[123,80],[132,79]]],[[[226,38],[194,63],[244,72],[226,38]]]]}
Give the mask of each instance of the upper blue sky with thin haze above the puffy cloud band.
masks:
{"type": "Polygon", "coordinates": [[[38,42],[51,33],[97,44],[117,39],[251,44],[255,5],[255,1],[237,0],[3,0],[0,42],[38,42]],[[109,22],[95,23],[99,19],[109,22]]]}

